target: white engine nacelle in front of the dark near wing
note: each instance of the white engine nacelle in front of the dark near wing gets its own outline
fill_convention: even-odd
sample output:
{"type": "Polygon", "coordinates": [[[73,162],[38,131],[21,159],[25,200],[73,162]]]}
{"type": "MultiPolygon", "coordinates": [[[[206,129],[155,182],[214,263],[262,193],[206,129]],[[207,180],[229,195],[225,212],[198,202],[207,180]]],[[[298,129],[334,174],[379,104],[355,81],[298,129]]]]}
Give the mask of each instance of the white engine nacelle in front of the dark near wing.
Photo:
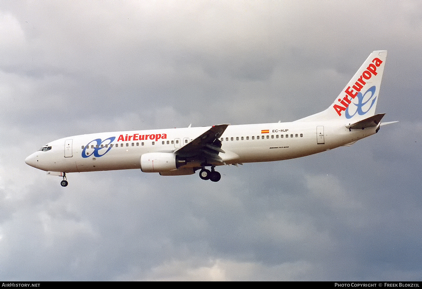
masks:
{"type": "Polygon", "coordinates": [[[176,154],[148,153],[141,155],[141,170],[144,173],[159,173],[176,170],[176,154]]]}

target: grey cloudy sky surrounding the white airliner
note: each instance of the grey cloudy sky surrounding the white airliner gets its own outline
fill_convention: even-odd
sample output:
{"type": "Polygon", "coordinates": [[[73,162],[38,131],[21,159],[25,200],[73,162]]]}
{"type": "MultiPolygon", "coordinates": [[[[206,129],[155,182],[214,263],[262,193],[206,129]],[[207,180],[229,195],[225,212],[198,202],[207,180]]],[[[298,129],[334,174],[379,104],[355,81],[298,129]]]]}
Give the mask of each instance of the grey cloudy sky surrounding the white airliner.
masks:
{"type": "Polygon", "coordinates": [[[422,280],[420,1],[0,2],[1,280],[422,280]],[[388,50],[376,135],[218,183],[60,178],[84,133],[289,122],[388,50]]]}

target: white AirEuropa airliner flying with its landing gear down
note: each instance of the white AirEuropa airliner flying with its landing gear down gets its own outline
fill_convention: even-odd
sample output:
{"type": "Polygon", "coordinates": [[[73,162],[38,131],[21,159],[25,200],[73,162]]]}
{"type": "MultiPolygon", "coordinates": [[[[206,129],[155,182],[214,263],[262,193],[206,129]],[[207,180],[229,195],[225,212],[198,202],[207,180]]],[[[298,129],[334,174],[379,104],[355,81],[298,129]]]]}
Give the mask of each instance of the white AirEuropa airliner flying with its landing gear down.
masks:
{"type": "Polygon", "coordinates": [[[161,176],[219,181],[220,165],[271,162],[350,146],[384,124],[375,114],[387,51],[373,51],[324,111],[294,122],[102,132],[47,143],[25,162],[48,175],[141,169],[161,176]],[[210,167],[208,170],[206,167],[210,167]]]}

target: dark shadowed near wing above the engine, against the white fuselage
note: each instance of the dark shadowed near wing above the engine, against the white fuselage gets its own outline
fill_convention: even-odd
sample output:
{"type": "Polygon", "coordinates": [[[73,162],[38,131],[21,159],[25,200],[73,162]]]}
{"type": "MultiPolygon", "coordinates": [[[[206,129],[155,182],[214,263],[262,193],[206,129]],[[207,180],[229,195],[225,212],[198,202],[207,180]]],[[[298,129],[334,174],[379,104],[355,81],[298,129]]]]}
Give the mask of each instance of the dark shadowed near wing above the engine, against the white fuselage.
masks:
{"type": "Polygon", "coordinates": [[[207,162],[222,162],[222,157],[218,154],[225,153],[221,149],[221,141],[219,138],[226,130],[229,124],[219,124],[212,126],[209,130],[198,136],[191,142],[187,143],[174,153],[179,157],[205,160],[207,162]]]}

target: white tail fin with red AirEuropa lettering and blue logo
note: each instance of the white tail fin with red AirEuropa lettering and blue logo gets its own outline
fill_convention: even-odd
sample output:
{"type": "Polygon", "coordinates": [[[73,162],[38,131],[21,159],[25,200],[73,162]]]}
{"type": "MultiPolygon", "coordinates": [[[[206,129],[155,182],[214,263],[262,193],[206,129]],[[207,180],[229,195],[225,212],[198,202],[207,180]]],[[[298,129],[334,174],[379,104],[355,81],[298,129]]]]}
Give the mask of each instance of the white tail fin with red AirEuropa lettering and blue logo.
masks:
{"type": "Polygon", "coordinates": [[[375,115],[386,58],[386,50],[373,51],[329,108],[297,121],[358,122],[375,115]]]}

